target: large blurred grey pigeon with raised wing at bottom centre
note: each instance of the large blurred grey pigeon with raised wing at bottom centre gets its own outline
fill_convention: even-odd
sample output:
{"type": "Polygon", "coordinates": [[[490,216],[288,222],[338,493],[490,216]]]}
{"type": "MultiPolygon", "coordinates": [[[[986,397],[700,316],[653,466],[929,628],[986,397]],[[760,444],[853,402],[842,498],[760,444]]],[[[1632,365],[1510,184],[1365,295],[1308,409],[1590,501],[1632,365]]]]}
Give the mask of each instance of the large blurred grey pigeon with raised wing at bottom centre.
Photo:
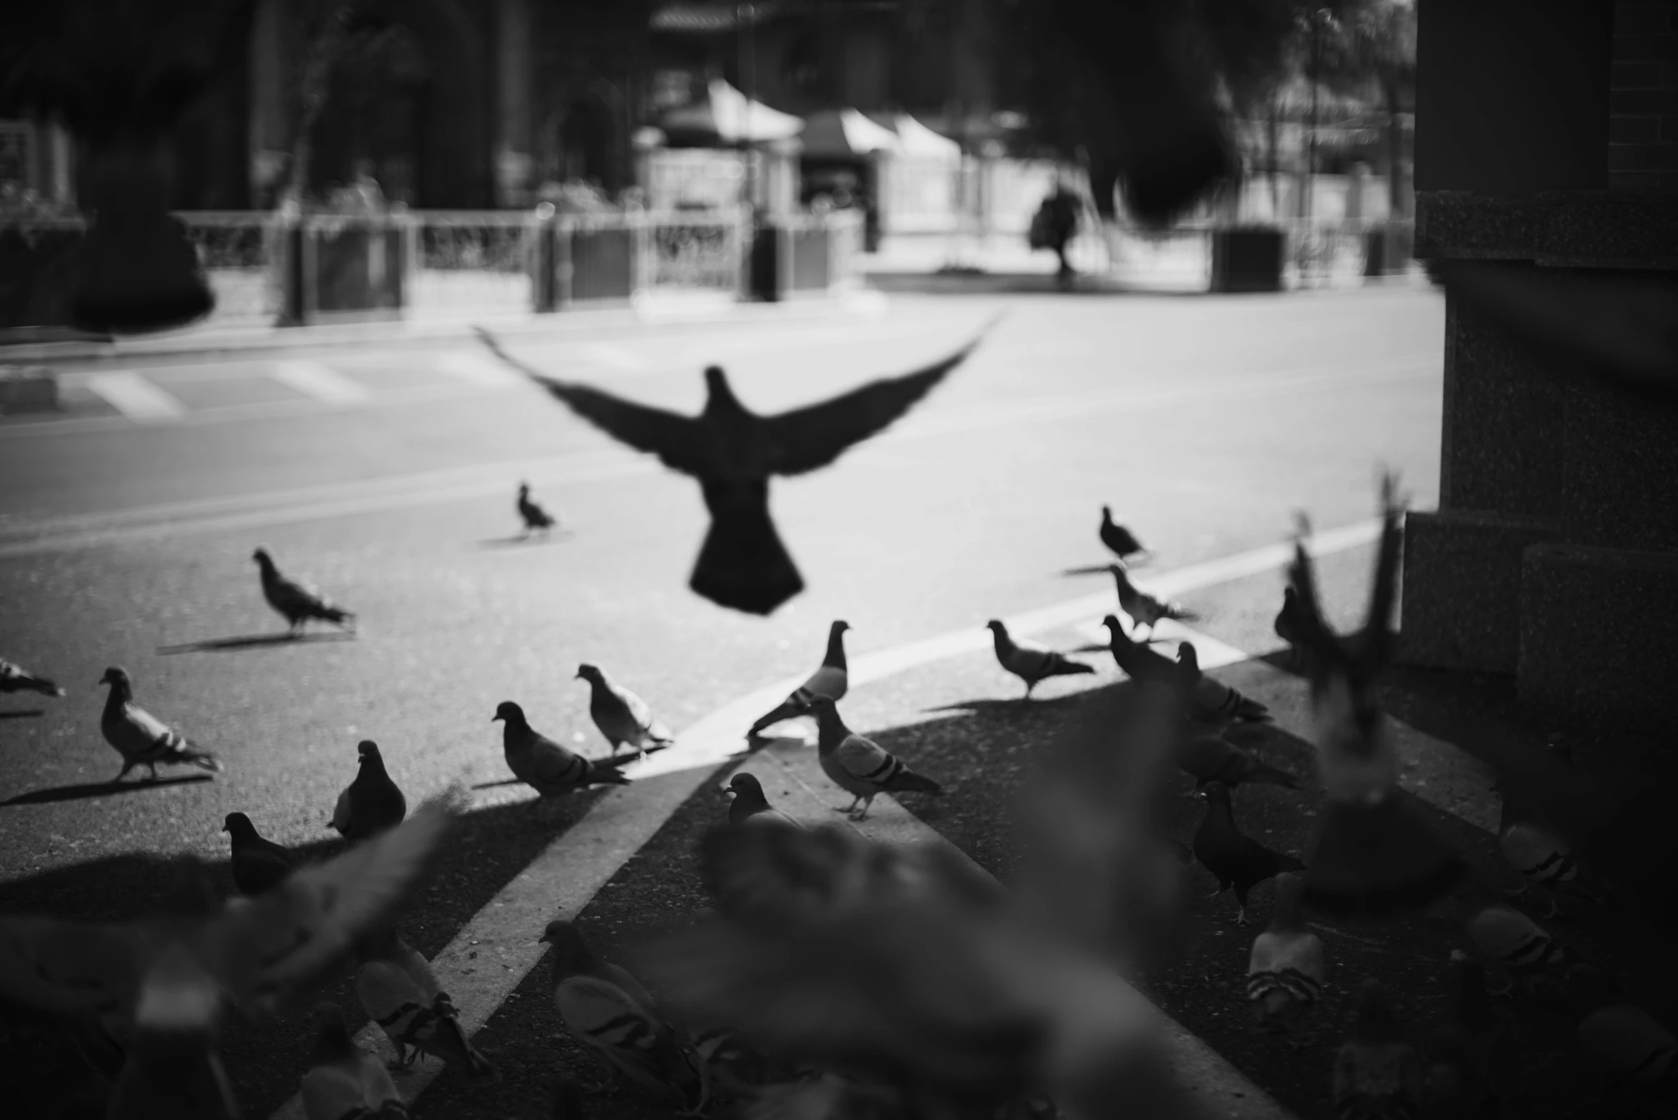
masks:
{"type": "MultiPolygon", "coordinates": [[[[943,842],[720,828],[701,860],[722,917],[653,942],[643,976],[683,1014],[878,1090],[857,1115],[992,1115],[1047,1093],[1092,1120],[1206,1117],[1116,971],[1180,905],[1141,811],[1168,723],[1091,711],[1024,791],[1008,890],[943,842]],[[1116,731],[1134,749],[1114,751],[1116,731]]],[[[784,1086],[752,1115],[831,1115],[819,1091],[852,1097],[784,1086]]]]}

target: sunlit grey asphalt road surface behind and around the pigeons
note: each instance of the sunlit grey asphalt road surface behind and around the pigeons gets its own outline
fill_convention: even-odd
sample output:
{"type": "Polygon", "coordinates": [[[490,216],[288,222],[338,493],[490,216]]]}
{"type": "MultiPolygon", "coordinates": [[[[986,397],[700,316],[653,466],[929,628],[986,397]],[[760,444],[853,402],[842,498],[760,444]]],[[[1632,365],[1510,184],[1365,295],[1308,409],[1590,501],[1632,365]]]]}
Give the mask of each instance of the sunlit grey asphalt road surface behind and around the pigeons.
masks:
{"type": "MultiPolygon", "coordinates": [[[[777,521],[809,590],[770,619],[686,590],[705,530],[691,481],[611,444],[540,389],[498,384],[475,347],[310,354],[302,374],[275,374],[267,357],[128,364],[178,411],[149,423],[91,387],[111,371],[70,374],[72,416],[0,424],[0,656],[69,689],[0,711],[40,711],[0,718],[0,912],[136,914],[159,884],[141,857],[223,860],[220,827],[233,810],[280,843],[326,852],[326,820],[362,738],[381,744],[409,805],[451,781],[488,786],[508,776],[490,723],[502,699],[544,733],[602,749],[587,687],[572,679],[584,661],[683,728],[812,667],[836,617],[852,624],[857,656],[1101,590],[1062,572],[1104,560],[1102,503],[1154,548],[1158,568],[1274,543],[1299,508],[1322,528],[1366,520],[1379,464],[1401,471],[1415,508],[1436,503],[1443,302],[1431,290],[896,297],[884,317],[844,324],[513,349],[690,411],[701,401],[698,369],[717,360],[748,406],[775,411],[931,360],[1000,307],[1008,319],[911,417],[829,471],[775,483],[777,521]],[[512,542],[520,478],[565,533],[512,542]],[[284,624],[258,592],[258,543],[357,610],[359,635],[267,640],[284,624]],[[117,758],[99,736],[94,681],[109,664],[129,669],[149,711],[216,749],[227,773],[106,786],[117,758]]],[[[1359,609],[1366,552],[1326,565],[1337,617],[1359,609]]],[[[1201,629],[1269,652],[1277,583],[1206,592],[1201,629]]],[[[1032,741],[1060,708],[1055,696],[1114,679],[1104,664],[1099,679],[1050,682],[1040,689],[1049,703],[1015,713],[988,701],[1012,699],[1017,681],[988,656],[961,657],[859,689],[849,708],[852,726],[889,731],[894,749],[940,768],[951,795],[906,805],[997,869],[1005,853],[987,813],[1022,760],[1010,756],[1008,781],[990,781],[985,746],[1032,741]],[[926,711],[956,701],[980,706],[960,718],[926,711]]],[[[1275,751],[1309,771],[1304,744],[1275,751]]],[[[1243,827],[1287,847],[1280,833],[1300,833],[1309,811],[1287,796],[1260,798],[1253,822],[1238,810],[1243,827]]],[[[537,813],[519,786],[475,798],[472,825],[408,919],[428,954],[591,803],[537,813]]],[[[686,845],[718,811],[715,795],[696,796],[591,905],[586,927],[611,944],[661,910],[696,905],[686,845]]],[[[1423,924],[1403,944],[1416,961],[1404,983],[1436,1014],[1443,994],[1421,996],[1448,952],[1435,934],[1423,924]]],[[[1243,1008],[1238,976],[1218,969],[1243,962],[1250,937],[1230,927],[1208,937],[1151,994],[1300,1117],[1326,1115],[1332,1040],[1304,1058],[1220,1040],[1217,1019],[1243,1008]]],[[[480,1040],[503,1083],[485,1093],[445,1073],[418,1115],[542,1115],[532,1093],[557,1063],[576,1061],[555,1040],[545,976],[539,967],[480,1040]]],[[[337,998],[356,1026],[346,993],[337,998]]],[[[1337,1031],[1336,1019],[1327,1034],[1337,1031]]],[[[0,1091],[79,1076],[30,1019],[5,1019],[5,1034],[0,1091]]],[[[304,1053],[295,1024],[230,1029],[247,1115],[265,1117],[295,1091],[304,1053]]],[[[607,1102],[601,1115],[654,1113],[607,1102]]]]}

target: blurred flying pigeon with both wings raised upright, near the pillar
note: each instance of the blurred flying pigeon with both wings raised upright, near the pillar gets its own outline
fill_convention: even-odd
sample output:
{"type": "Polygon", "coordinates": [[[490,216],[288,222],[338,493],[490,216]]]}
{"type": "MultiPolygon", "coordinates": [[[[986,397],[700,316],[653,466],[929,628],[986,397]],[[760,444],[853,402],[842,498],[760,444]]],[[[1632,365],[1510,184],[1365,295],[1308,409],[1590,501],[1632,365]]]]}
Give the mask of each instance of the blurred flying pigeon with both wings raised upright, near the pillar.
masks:
{"type": "Polygon", "coordinates": [[[1393,656],[1393,610],[1403,548],[1403,506],[1391,473],[1381,480],[1381,543],[1364,629],[1342,639],[1324,620],[1300,515],[1289,580],[1299,594],[1300,644],[1311,661],[1311,706],[1326,803],[1311,852],[1305,902],[1331,914],[1384,915],[1423,907],[1467,863],[1398,788],[1398,748],[1374,704],[1374,681],[1393,656]]]}

